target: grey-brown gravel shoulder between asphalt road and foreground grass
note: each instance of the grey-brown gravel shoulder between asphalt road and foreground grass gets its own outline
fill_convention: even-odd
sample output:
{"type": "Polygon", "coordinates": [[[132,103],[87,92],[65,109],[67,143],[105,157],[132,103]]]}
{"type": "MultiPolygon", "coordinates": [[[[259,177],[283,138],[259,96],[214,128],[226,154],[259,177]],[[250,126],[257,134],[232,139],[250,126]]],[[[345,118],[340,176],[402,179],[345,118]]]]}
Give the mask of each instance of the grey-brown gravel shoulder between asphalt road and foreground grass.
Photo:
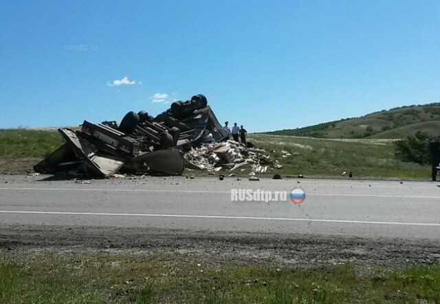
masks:
{"type": "Polygon", "coordinates": [[[399,239],[212,233],[90,226],[0,226],[3,250],[179,253],[215,263],[310,267],[344,262],[384,266],[439,264],[440,244],[399,239]]]}

